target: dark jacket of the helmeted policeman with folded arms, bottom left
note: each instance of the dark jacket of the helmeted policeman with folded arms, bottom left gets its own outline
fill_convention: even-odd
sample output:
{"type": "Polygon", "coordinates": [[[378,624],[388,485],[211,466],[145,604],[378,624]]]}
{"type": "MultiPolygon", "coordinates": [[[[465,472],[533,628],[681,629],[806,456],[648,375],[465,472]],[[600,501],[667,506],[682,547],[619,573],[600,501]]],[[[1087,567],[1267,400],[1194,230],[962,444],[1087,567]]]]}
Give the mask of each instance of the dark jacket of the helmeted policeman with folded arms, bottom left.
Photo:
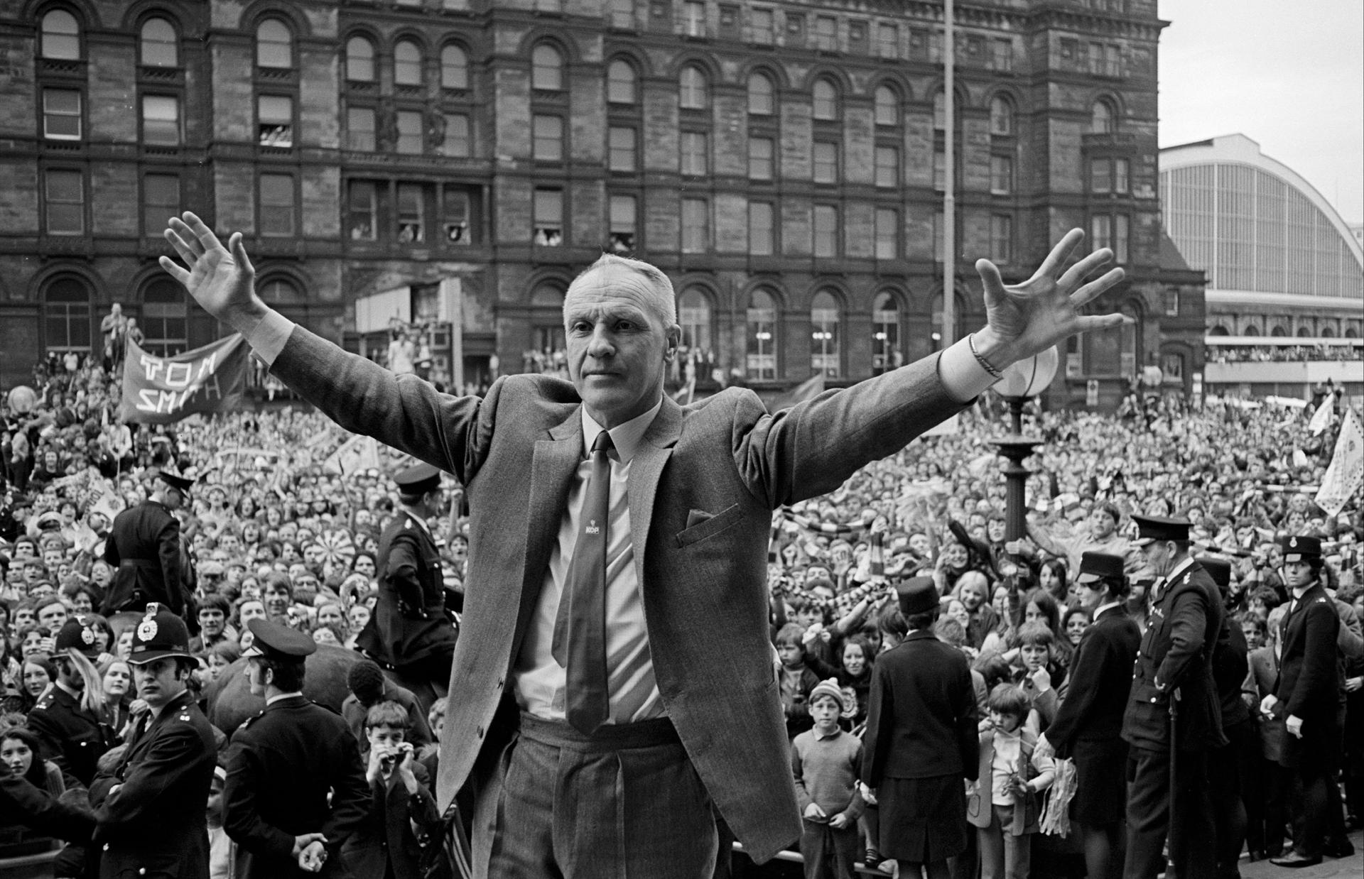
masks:
{"type": "Polygon", "coordinates": [[[207,878],[216,758],[213,729],[190,691],[138,720],[123,759],[90,786],[100,876],[207,878]]]}

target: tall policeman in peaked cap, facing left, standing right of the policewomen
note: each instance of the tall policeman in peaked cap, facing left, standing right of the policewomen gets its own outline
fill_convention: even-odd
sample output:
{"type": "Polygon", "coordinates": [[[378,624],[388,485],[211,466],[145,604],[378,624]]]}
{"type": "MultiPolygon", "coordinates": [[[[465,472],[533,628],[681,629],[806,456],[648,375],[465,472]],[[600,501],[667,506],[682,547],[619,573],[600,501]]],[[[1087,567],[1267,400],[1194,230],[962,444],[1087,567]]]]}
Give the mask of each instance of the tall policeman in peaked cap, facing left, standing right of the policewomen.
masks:
{"type": "Polygon", "coordinates": [[[1214,833],[1207,752],[1226,744],[1211,653],[1226,611],[1217,583],[1189,556],[1187,521],[1140,515],[1132,519],[1139,529],[1132,542],[1157,581],[1123,715],[1123,739],[1132,748],[1123,875],[1155,879],[1163,872],[1165,835],[1176,829],[1170,834],[1176,875],[1211,876],[1215,853],[1207,845],[1214,833]],[[1173,796],[1172,759],[1176,760],[1173,796]]]}

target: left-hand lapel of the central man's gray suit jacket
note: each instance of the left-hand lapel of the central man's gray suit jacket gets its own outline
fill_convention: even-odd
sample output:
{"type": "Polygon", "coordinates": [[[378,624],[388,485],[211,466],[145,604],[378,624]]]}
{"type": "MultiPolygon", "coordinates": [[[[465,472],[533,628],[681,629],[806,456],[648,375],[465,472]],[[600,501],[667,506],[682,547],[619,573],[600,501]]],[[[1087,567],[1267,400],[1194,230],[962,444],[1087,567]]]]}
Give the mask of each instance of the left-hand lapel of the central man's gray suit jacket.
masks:
{"type": "Polygon", "coordinates": [[[527,516],[525,568],[521,583],[521,606],[517,613],[512,656],[521,650],[521,639],[540,601],[544,571],[559,534],[563,508],[569,503],[573,474],[582,461],[582,416],[578,407],[562,422],[550,428],[546,439],[536,440],[531,461],[531,499],[527,516]]]}

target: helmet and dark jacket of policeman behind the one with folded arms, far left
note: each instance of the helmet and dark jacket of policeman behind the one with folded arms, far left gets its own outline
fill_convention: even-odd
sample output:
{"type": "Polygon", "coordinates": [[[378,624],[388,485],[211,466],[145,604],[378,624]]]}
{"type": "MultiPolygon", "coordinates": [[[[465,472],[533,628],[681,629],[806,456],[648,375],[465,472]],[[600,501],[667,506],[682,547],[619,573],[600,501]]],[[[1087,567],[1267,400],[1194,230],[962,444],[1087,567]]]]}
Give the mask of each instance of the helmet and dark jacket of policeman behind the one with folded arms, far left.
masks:
{"type": "MultiPolygon", "coordinates": [[[[60,658],[67,649],[76,650],[91,662],[100,658],[94,630],[85,623],[83,616],[67,620],[57,632],[53,658],[60,658]]],[[[42,758],[67,770],[86,786],[94,781],[95,763],[119,743],[113,729],[100,714],[80,705],[79,694],[72,695],[56,683],[29,711],[29,728],[42,743],[42,758]]]]}

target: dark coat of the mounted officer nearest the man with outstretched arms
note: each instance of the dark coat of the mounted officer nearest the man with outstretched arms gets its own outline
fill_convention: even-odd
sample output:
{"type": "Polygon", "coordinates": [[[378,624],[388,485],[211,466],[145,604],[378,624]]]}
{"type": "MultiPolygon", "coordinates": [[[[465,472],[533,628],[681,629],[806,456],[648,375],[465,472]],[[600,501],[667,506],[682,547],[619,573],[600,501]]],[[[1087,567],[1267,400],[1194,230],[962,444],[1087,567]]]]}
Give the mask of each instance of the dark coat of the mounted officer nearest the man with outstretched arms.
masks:
{"type": "Polygon", "coordinates": [[[454,649],[445,611],[441,555],[426,525],[402,511],[379,538],[379,601],[356,646],[379,662],[402,668],[454,649]]]}

